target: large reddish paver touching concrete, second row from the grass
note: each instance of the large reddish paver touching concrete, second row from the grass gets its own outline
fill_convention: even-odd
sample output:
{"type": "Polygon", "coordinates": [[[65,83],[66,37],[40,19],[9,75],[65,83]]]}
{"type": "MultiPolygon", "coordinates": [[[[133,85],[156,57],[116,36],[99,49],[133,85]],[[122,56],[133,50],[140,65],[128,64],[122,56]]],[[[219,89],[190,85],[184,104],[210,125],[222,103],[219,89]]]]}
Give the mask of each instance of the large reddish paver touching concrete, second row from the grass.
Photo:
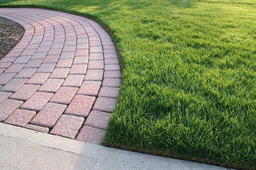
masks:
{"type": "Polygon", "coordinates": [[[50,134],[75,139],[83,122],[83,117],[61,115],[50,134]]]}

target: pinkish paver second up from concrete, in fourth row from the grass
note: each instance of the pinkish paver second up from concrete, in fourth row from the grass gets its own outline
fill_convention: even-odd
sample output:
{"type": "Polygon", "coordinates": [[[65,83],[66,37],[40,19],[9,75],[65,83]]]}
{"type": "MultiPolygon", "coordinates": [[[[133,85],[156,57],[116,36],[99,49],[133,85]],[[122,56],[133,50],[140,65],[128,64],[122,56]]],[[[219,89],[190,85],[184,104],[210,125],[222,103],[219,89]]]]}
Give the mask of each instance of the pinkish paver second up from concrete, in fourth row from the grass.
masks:
{"type": "Polygon", "coordinates": [[[20,108],[40,111],[52,96],[53,93],[35,92],[22,106],[20,106],[20,108]]]}

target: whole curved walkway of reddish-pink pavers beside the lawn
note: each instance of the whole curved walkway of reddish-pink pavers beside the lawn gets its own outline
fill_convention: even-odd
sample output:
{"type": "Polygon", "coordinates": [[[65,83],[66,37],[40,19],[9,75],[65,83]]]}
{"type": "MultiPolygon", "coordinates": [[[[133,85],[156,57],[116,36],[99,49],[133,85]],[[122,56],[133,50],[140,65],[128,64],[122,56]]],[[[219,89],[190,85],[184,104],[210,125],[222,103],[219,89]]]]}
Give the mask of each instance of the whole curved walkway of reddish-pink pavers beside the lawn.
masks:
{"type": "Polygon", "coordinates": [[[101,144],[121,83],[110,35],[58,11],[0,8],[25,29],[0,60],[0,122],[101,144]]]}

